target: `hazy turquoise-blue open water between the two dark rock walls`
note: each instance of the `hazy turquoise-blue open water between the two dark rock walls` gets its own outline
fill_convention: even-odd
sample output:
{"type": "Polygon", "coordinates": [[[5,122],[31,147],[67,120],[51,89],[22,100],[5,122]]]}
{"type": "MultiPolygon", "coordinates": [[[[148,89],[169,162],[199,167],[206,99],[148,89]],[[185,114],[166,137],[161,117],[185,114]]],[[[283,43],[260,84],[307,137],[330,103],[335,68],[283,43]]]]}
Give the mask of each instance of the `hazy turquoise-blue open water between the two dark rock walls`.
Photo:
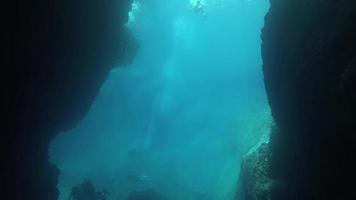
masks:
{"type": "Polygon", "coordinates": [[[135,60],[112,70],[87,116],[52,142],[61,200],[84,179],[113,200],[147,188],[169,200],[234,199],[241,159],[270,125],[260,53],[269,4],[192,4],[136,1],[135,60]]]}

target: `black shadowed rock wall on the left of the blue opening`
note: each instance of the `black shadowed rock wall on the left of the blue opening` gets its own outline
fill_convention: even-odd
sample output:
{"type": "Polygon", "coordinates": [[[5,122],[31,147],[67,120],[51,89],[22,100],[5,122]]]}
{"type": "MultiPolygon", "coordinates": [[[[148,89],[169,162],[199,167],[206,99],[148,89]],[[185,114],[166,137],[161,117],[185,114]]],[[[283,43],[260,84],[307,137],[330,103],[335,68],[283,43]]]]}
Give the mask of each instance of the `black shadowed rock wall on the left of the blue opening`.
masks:
{"type": "Polygon", "coordinates": [[[1,68],[1,196],[54,200],[48,144],[85,115],[107,73],[137,43],[125,29],[130,0],[5,3],[1,68]]]}

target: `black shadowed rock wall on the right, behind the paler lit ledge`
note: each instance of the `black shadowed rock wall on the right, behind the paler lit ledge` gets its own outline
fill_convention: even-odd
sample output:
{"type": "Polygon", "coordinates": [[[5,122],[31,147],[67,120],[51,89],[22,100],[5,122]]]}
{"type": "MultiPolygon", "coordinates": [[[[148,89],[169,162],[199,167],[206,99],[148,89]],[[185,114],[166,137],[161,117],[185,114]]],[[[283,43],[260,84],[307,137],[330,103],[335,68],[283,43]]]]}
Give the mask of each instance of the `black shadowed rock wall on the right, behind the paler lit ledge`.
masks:
{"type": "Polygon", "coordinates": [[[272,199],[356,199],[356,1],[271,0],[262,53],[280,132],[272,199]]]}

